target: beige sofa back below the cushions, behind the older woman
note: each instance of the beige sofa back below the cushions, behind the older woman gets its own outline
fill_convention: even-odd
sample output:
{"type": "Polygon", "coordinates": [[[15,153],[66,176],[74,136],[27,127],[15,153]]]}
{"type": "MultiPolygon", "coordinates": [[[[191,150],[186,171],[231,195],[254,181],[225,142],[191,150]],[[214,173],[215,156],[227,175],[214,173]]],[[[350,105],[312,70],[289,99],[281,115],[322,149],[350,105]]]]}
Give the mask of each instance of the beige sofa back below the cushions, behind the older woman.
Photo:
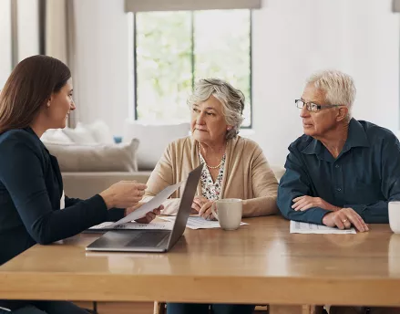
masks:
{"type": "MultiPolygon", "coordinates": [[[[281,179],[284,168],[272,166],[278,181],[281,179]]],[[[136,180],[139,183],[147,183],[150,171],[138,171],[135,173],[62,173],[64,191],[69,197],[86,199],[98,194],[113,183],[122,180],[136,180]]]]}

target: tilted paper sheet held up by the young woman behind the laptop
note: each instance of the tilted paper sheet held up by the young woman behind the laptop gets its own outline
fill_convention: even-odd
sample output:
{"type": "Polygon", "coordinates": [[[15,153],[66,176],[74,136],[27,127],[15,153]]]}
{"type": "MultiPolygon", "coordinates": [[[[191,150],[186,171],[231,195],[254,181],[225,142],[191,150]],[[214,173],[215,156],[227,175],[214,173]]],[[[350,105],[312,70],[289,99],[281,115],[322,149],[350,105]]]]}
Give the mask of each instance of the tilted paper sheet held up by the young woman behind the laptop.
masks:
{"type": "Polygon", "coordinates": [[[142,204],[136,211],[130,213],[126,217],[119,219],[118,222],[108,225],[108,228],[114,227],[115,225],[121,225],[138,218],[144,217],[146,214],[151,212],[153,209],[158,208],[160,204],[164,203],[167,198],[169,198],[170,194],[173,194],[178,190],[179,186],[183,183],[179,182],[173,185],[167,186],[164,190],[162,190],[159,194],[154,196],[148,203],[142,204]]]}

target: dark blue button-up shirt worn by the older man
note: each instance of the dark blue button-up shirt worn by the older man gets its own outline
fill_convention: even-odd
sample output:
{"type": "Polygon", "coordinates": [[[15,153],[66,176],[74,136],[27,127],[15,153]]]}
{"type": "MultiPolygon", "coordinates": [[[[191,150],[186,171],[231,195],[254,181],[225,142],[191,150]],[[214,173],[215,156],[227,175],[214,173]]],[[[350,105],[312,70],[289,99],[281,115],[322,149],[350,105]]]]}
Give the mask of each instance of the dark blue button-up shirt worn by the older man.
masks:
{"type": "Polygon", "coordinates": [[[292,209],[298,196],[321,197],[339,207],[351,207],[367,224],[387,224],[389,201],[400,200],[400,143],[373,123],[352,119],[339,156],[310,136],[289,146],[286,173],[278,189],[278,207],[287,219],[322,225],[320,207],[292,209]]]}

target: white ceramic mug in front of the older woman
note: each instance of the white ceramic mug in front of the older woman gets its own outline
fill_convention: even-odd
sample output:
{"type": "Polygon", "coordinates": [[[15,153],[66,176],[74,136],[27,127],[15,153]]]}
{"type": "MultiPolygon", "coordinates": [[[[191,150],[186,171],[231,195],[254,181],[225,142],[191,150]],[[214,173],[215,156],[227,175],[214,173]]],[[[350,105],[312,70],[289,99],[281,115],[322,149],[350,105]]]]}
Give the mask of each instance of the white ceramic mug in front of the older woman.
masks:
{"type": "Polygon", "coordinates": [[[218,219],[224,230],[236,230],[241,225],[242,201],[239,198],[225,198],[211,206],[212,215],[218,219]]]}

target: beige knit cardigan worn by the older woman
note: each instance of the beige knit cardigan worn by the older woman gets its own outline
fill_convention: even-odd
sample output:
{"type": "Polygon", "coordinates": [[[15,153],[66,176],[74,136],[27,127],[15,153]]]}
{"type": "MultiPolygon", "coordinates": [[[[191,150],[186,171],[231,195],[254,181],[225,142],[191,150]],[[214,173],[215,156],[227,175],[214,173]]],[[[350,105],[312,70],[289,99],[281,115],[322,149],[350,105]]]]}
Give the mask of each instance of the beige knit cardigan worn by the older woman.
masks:
{"type": "MultiPolygon", "coordinates": [[[[187,179],[200,165],[197,143],[186,137],[169,144],[149,177],[143,201],[149,201],[168,185],[187,179]]],[[[164,203],[164,215],[176,215],[183,190],[184,184],[164,203]]],[[[244,217],[272,215],[278,213],[277,191],[278,182],[260,146],[240,136],[228,141],[221,198],[241,198],[244,217]]],[[[201,195],[201,182],[197,195],[201,195]]]]}

